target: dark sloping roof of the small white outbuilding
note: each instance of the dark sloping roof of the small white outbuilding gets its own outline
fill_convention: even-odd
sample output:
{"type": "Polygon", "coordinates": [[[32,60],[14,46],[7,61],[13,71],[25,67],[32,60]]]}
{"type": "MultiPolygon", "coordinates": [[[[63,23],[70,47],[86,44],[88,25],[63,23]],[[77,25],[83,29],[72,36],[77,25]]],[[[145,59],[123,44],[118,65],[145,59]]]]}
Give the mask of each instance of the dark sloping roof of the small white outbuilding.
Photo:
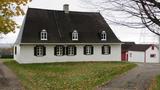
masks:
{"type": "Polygon", "coordinates": [[[146,51],[151,45],[147,44],[136,44],[129,48],[129,51],[146,51]]]}

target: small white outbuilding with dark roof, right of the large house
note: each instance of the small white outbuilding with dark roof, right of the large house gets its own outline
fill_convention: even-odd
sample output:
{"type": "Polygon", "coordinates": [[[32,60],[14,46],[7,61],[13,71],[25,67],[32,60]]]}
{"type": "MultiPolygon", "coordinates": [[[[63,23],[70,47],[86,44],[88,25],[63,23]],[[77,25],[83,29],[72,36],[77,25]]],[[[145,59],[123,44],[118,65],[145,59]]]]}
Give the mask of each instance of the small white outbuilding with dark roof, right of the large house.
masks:
{"type": "Polygon", "coordinates": [[[156,45],[135,44],[126,52],[129,62],[159,63],[159,51],[156,45]]]}

